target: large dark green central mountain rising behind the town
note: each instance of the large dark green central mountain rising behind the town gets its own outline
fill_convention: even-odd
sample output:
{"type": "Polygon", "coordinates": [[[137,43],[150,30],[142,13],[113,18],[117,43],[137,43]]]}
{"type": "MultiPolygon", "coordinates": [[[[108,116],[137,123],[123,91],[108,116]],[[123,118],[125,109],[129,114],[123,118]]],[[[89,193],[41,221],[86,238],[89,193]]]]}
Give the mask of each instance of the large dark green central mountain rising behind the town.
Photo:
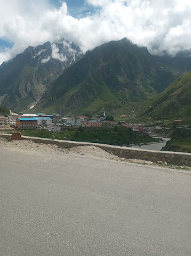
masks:
{"type": "Polygon", "coordinates": [[[128,102],[140,102],[161,93],[185,69],[191,58],[152,56],[126,38],[87,52],[61,74],[34,111],[61,114],[113,113],[128,102]]]}

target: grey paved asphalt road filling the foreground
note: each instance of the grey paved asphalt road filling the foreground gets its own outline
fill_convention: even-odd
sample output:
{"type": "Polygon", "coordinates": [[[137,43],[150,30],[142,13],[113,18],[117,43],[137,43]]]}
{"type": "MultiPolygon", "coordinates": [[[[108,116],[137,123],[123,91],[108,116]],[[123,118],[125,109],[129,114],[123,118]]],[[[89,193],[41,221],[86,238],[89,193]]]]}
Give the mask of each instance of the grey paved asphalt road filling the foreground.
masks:
{"type": "Polygon", "coordinates": [[[191,174],[0,148],[0,255],[191,255],[191,174]]]}

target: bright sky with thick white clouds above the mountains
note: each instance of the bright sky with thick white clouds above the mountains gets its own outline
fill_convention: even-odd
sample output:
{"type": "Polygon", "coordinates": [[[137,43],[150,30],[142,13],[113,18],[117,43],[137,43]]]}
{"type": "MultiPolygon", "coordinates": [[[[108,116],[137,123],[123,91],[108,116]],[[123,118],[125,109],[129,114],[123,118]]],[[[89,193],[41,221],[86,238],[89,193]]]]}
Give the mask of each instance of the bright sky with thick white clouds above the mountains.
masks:
{"type": "Polygon", "coordinates": [[[82,51],[128,37],[151,53],[191,49],[190,0],[0,0],[0,64],[65,37],[82,51]]]}

